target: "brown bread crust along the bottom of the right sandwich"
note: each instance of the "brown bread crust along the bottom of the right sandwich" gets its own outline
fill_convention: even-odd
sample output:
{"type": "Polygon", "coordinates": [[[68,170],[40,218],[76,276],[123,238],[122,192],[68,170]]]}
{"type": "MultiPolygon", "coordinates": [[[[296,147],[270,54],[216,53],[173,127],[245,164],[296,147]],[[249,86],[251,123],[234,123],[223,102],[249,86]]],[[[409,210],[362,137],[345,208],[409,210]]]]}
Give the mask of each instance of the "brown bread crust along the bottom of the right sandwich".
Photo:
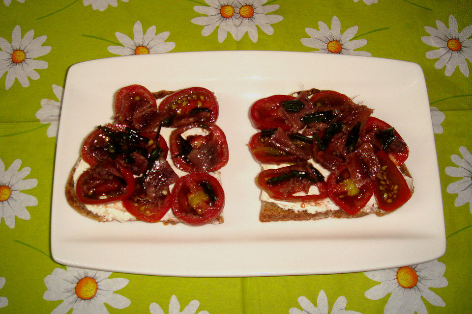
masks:
{"type": "MultiPolygon", "coordinates": [[[[405,164],[399,167],[399,170],[405,176],[412,178],[408,168],[405,164]]],[[[411,186],[411,192],[413,194],[414,187],[411,186]]],[[[358,218],[363,217],[372,213],[377,216],[383,216],[393,211],[384,211],[379,209],[377,204],[374,204],[370,208],[364,208],[355,215],[350,215],[344,212],[342,209],[328,209],[323,212],[309,213],[307,210],[295,211],[293,209],[283,209],[275,203],[262,201],[261,211],[259,213],[259,221],[261,222],[273,222],[273,221],[294,221],[294,220],[318,220],[324,218],[358,218]]]]}

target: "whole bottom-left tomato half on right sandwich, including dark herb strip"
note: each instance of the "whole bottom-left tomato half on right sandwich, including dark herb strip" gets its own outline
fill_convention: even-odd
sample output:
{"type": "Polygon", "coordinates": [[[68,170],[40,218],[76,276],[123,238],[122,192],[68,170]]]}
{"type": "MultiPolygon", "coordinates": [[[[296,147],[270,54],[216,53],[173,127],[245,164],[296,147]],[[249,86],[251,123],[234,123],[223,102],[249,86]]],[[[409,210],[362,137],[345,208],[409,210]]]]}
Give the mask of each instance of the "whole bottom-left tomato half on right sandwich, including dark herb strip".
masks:
{"type": "Polygon", "coordinates": [[[328,196],[323,180],[323,176],[308,163],[300,163],[264,170],[257,177],[257,184],[274,200],[310,202],[328,196]],[[318,191],[310,189],[312,186],[318,191]]]}

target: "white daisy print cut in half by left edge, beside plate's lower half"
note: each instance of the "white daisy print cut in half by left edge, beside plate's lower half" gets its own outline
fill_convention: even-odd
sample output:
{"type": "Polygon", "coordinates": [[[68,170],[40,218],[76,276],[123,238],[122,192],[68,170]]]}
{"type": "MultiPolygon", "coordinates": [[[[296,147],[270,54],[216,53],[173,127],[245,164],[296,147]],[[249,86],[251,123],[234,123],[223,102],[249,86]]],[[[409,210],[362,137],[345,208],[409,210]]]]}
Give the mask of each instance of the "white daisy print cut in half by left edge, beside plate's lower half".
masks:
{"type": "Polygon", "coordinates": [[[38,184],[36,179],[26,179],[31,168],[25,167],[20,170],[21,160],[16,159],[5,171],[5,165],[0,159],[0,222],[1,218],[5,224],[13,229],[15,228],[15,216],[29,220],[29,211],[27,206],[38,205],[38,200],[31,195],[20,191],[28,190],[38,184]]]}

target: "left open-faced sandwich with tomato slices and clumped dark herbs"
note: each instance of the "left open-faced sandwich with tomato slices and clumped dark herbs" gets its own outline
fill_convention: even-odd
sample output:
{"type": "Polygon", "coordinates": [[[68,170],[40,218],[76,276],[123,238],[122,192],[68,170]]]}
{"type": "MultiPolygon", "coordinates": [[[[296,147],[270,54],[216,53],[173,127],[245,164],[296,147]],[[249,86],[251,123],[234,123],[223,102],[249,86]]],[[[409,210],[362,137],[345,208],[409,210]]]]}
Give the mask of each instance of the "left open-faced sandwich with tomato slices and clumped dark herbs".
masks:
{"type": "Polygon", "coordinates": [[[216,98],[202,87],[120,89],[113,121],[83,143],[65,187],[68,203],[101,222],[222,223],[219,170],[228,144],[217,117],[216,98]]]}

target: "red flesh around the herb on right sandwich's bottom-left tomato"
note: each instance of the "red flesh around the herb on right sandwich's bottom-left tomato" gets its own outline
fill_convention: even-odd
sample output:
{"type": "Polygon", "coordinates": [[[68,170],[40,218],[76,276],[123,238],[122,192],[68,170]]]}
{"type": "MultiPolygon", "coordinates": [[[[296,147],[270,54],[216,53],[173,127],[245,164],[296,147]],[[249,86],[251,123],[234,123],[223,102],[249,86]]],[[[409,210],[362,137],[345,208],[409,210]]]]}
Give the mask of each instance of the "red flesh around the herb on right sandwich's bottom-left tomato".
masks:
{"type": "MultiPolygon", "coordinates": [[[[282,168],[276,169],[266,169],[259,173],[257,177],[257,184],[261,187],[267,195],[279,201],[288,201],[288,202],[311,202],[311,201],[319,201],[328,196],[326,183],[324,181],[318,183],[312,183],[311,185],[316,185],[319,190],[319,194],[311,194],[311,195],[300,195],[300,196],[293,196],[294,193],[300,192],[302,189],[300,188],[300,182],[296,182],[299,184],[291,183],[290,181],[276,183],[276,184],[269,184],[267,181],[271,178],[283,175],[288,173],[293,166],[287,166],[282,168]],[[290,190],[290,193],[284,193],[283,191],[290,190]]],[[[302,180],[302,179],[295,179],[295,180],[302,180]]]]}

